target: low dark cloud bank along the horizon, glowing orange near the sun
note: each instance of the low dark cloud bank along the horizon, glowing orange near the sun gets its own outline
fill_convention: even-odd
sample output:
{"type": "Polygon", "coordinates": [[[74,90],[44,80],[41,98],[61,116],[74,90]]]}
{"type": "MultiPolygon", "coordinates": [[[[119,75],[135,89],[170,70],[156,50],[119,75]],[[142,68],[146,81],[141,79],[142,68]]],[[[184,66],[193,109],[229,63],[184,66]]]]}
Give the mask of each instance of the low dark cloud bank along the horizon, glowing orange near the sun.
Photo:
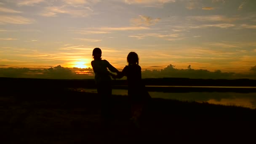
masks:
{"type": "MultiPolygon", "coordinates": [[[[216,70],[211,72],[207,69],[192,69],[189,65],[187,69],[176,69],[172,64],[164,69],[144,70],[141,72],[142,78],[162,78],[162,77],[185,77],[201,79],[256,79],[256,66],[251,67],[250,72],[240,74],[235,72],[221,72],[216,70]]],[[[0,77],[21,77],[21,78],[47,78],[47,79],[93,79],[94,73],[91,68],[67,68],[57,67],[45,69],[32,68],[0,68],[0,77]]]]}

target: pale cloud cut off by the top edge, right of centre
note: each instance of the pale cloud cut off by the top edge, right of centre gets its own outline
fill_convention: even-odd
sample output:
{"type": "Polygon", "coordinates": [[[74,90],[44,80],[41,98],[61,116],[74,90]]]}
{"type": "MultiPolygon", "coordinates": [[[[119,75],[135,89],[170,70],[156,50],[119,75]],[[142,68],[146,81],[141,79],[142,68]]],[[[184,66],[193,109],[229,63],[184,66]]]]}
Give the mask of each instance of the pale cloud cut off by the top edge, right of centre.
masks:
{"type": "Polygon", "coordinates": [[[131,4],[139,4],[147,7],[160,7],[165,3],[174,3],[176,0],[125,0],[125,3],[131,4]]]}

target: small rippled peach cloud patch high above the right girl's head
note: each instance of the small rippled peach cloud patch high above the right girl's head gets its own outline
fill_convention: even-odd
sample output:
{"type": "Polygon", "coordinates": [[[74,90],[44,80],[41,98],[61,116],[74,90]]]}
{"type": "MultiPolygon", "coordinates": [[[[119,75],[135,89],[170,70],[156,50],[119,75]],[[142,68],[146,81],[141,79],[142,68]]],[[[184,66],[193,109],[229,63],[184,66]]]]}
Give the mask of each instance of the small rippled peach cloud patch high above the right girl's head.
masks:
{"type": "Polygon", "coordinates": [[[149,16],[139,15],[139,18],[131,19],[131,24],[134,26],[151,26],[155,25],[158,21],[160,21],[160,18],[152,19],[149,16]]]}

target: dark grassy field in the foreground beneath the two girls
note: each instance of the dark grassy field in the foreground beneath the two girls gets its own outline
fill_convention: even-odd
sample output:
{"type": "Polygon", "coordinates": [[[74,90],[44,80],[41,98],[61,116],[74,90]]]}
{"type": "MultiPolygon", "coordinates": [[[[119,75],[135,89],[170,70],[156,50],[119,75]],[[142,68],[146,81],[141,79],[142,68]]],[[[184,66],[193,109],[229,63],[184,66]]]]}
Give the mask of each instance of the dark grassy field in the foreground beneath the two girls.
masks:
{"type": "Polygon", "coordinates": [[[1,89],[0,134],[6,144],[247,143],[256,109],[152,99],[139,127],[126,96],[113,96],[114,119],[102,123],[96,93],[67,88],[1,89]]]}

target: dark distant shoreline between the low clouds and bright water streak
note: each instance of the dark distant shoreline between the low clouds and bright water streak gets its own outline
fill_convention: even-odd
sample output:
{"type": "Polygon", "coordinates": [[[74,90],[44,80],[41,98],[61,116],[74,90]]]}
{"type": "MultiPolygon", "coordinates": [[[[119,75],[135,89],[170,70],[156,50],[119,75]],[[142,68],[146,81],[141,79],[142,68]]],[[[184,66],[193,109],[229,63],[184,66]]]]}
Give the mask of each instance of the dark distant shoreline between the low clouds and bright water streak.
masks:
{"type": "MultiPolygon", "coordinates": [[[[94,79],[40,79],[40,78],[19,78],[19,77],[0,77],[1,81],[9,80],[16,82],[40,81],[40,82],[61,82],[78,83],[90,82],[94,84],[94,79]]],[[[153,86],[220,86],[220,87],[256,87],[256,80],[253,79],[191,79],[184,77],[163,77],[163,78],[144,78],[145,85],[153,86]]],[[[113,85],[127,85],[126,80],[112,80],[113,85]]]]}

